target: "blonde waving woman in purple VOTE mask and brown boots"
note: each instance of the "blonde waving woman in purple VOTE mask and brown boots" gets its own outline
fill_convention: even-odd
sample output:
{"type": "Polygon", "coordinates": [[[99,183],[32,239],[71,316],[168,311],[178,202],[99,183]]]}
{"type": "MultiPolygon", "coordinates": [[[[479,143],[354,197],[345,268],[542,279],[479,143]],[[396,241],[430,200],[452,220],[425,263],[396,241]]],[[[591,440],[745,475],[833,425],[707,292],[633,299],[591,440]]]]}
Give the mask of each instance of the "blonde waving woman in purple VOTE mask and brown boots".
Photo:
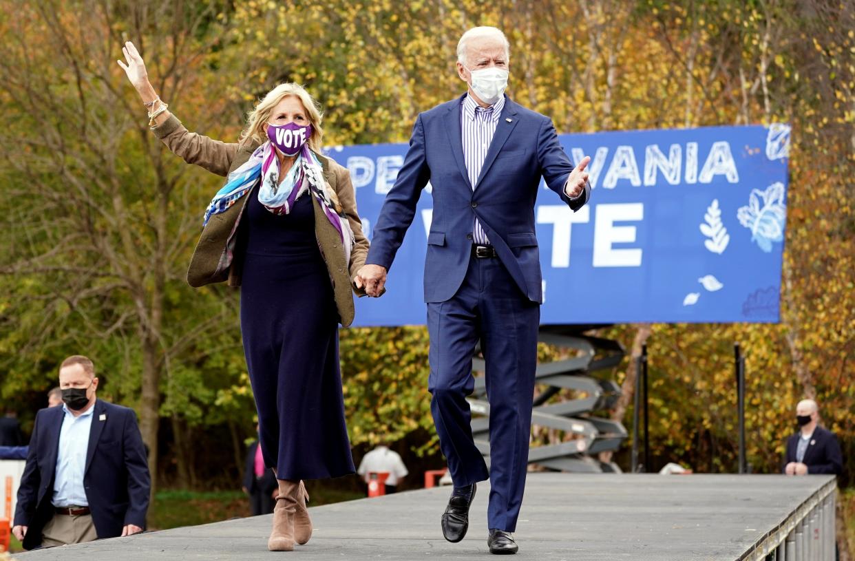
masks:
{"type": "Polygon", "coordinates": [[[122,51],[151,130],[186,162],[227,177],[204,213],[187,281],[240,286],[262,456],[279,481],[268,549],[291,551],[311,535],[302,480],[354,472],[338,323],[353,321],[369,242],[350,174],[321,156],[321,114],[302,86],[276,86],[239,142],[224,143],[188,132],[157,97],[133,44],[122,51]]]}

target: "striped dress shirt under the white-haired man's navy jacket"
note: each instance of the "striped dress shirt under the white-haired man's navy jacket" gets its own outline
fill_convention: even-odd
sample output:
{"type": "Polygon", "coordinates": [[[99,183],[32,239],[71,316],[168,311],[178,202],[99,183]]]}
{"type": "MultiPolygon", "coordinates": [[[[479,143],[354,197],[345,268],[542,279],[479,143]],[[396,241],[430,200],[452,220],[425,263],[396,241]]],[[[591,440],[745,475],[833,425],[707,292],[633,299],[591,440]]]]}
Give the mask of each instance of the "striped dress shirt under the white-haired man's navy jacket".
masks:
{"type": "MultiPolygon", "coordinates": [[[[469,173],[469,185],[475,191],[478,175],[484,166],[486,152],[490,149],[492,136],[496,133],[498,117],[502,115],[504,107],[504,96],[499,97],[491,107],[481,107],[469,94],[463,97],[460,109],[460,128],[463,132],[463,159],[466,162],[466,171],[469,173]]],[[[472,239],[475,244],[489,245],[481,222],[475,218],[472,228],[472,239]]]]}

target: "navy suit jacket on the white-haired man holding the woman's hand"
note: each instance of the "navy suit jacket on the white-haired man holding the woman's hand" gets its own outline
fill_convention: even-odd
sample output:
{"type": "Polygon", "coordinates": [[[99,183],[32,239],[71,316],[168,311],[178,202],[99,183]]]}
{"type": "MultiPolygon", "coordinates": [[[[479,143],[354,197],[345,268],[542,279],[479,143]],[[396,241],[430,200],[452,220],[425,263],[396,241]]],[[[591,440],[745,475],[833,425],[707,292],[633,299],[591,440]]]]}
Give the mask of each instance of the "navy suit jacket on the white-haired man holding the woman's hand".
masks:
{"type": "Polygon", "coordinates": [[[425,257],[425,302],[445,302],[457,292],[469,267],[477,216],[522,293],[540,303],[540,252],[534,235],[540,178],[573,210],[587,202],[590,186],[578,198],[564,194],[573,164],[558,143],[552,121],[505,96],[473,191],[463,160],[462,102],[459,97],[416,118],[410,150],[380,210],[366,263],[392,266],[422,189],[430,181],[433,220],[425,257]]]}

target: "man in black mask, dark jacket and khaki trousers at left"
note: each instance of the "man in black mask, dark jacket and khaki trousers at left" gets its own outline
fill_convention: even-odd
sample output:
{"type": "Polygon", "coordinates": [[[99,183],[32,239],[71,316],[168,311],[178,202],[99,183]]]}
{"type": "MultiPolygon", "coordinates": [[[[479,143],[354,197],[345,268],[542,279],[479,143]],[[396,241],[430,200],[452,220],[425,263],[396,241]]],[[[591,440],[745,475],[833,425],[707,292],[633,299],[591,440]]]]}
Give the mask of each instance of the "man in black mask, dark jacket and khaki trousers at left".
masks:
{"type": "Polygon", "coordinates": [[[64,405],[36,414],[12,532],[26,549],[141,532],[151,484],[136,415],[96,398],[86,357],[66,358],[59,382],[64,405]]]}

